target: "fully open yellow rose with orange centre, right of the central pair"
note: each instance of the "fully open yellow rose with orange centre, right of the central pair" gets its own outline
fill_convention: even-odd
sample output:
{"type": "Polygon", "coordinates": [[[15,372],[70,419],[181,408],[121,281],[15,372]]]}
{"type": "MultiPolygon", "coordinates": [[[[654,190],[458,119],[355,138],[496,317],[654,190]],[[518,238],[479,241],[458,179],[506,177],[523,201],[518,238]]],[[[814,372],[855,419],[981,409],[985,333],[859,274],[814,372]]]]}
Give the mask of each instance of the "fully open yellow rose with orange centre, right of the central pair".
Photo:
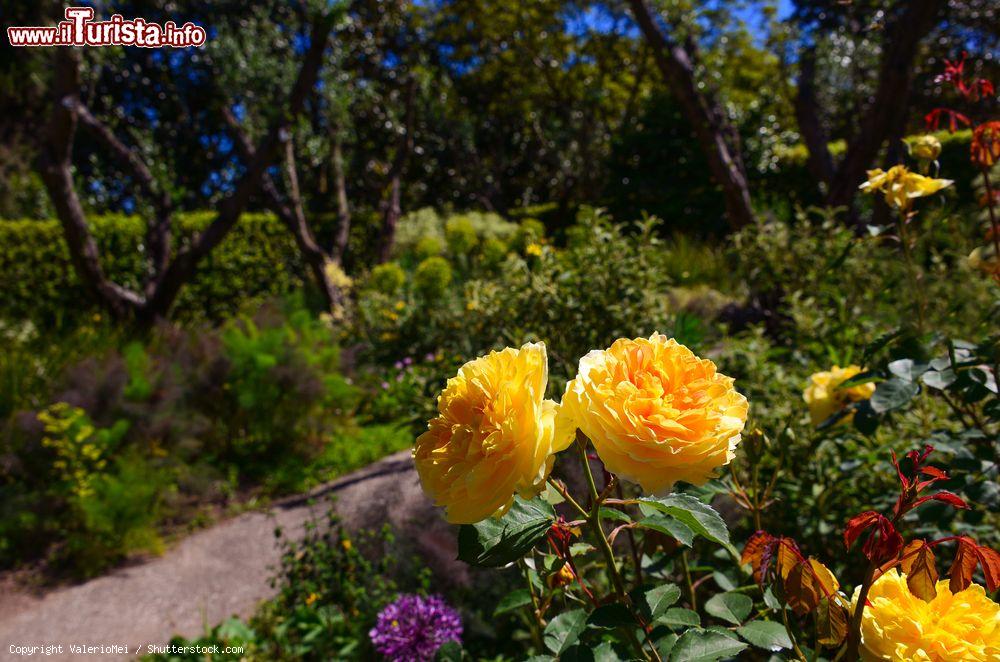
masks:
{"type": "Polygon", "coordinates": [[[704,483],[729,464],[747,400],[714,363],[654,333],[583,357],[560,415],[590,437],[609,471],[656,493],[704,483]]]}

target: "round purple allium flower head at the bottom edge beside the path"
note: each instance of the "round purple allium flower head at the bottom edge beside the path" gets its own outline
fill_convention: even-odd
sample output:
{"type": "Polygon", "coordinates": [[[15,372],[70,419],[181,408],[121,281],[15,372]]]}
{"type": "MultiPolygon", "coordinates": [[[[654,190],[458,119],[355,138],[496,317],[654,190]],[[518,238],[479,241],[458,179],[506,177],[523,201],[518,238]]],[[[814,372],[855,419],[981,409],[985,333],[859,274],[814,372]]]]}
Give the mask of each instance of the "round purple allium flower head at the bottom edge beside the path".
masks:
{"type": "Polygon", "coordinates": [[[446,642],[462,640],[458,612],[436,595],[401,595],[368,633],[375,650],[394,662],[429,662],[446,642]]]}

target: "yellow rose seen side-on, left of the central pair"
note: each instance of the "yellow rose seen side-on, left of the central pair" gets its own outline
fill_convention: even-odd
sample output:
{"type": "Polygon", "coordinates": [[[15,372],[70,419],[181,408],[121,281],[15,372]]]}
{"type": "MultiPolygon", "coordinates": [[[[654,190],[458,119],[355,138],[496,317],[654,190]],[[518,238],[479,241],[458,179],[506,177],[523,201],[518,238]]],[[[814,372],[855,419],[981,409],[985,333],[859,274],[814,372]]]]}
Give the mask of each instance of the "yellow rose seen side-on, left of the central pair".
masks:
{"type": "Polygon", "coordinates": [[[542,343],[491,352],[448,380],[413,458],[449,522],[478,522],[510,507],[514,493],[530,498],[544,487],[553,453],[572,441],[568,431],[556,436],[547,381],[542,343]]]}

